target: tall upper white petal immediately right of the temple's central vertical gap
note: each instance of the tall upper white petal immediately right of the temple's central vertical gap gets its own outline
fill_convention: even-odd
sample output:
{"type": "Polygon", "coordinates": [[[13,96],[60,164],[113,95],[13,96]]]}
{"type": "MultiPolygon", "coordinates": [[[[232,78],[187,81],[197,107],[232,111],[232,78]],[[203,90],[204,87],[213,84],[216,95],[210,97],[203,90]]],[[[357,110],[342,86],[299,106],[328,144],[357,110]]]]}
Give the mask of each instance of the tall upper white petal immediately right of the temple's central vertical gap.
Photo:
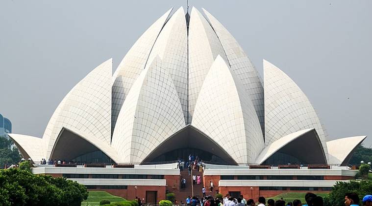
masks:
{"type": "Polygon", "coordinates": [[[227,62],[223,47],[208,21],[193,8],[189,25],[189,112],[192,121],[201,85],[213,61],[220,55],[227,62]]]}

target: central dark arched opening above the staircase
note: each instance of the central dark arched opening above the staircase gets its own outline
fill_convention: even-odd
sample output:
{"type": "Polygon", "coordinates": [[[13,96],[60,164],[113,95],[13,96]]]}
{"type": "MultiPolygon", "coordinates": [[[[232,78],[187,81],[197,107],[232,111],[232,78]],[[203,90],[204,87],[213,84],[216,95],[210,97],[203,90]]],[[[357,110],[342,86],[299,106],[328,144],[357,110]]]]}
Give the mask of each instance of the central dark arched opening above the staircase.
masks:
{"type": "Polygon", "coordinates": [[[141,164],[188,160],[189,154],[204,162],[238,165],[215,141],[192,125],[187,125],[155,148],[141,164]]]}

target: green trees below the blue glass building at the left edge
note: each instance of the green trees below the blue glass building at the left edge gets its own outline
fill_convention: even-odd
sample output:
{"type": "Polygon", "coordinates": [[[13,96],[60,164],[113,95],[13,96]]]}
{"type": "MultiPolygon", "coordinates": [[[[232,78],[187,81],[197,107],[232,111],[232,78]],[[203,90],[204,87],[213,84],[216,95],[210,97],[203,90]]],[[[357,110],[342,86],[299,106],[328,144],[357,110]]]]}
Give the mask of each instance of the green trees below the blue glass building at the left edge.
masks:
{"type": "Polygon", "coordinates": [[[0,166],[16,164],[21,160],[21,154],[16,147],[11,148],[13,142],[0,136],[0,166]]]}

